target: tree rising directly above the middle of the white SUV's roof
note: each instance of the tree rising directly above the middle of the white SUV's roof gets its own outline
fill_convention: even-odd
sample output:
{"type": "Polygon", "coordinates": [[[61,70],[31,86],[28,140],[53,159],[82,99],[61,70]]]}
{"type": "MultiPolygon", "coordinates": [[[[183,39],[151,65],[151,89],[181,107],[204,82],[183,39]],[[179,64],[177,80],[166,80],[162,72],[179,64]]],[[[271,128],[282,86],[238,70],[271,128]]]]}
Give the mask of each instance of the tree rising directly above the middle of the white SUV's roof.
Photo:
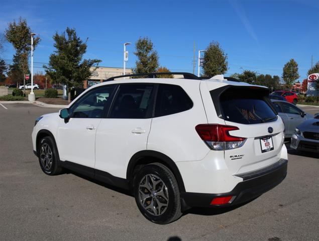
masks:
{"type": "Polygon", "coordinates": [[[133,68],[133,73],[153,73],[159,66],[158,54],[153,49],[153,43],[149,38],[140,37],[135,43],[136,51],[134,54],[137,56],[135,62],[136,67],[133,68]]]}

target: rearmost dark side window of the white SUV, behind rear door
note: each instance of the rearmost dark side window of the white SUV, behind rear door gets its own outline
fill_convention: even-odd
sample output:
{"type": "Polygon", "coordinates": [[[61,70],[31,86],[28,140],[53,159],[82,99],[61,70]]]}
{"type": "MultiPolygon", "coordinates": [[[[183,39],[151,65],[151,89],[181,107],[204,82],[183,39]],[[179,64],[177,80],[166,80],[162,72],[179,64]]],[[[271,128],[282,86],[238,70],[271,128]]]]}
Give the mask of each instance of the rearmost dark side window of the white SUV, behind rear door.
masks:
{"type": "Polygon", "coordinates": [[[173,84],[160,84],[157,92],[155,116],[174,114],[190,109],[193,102],[182,89],[173,84]]]}

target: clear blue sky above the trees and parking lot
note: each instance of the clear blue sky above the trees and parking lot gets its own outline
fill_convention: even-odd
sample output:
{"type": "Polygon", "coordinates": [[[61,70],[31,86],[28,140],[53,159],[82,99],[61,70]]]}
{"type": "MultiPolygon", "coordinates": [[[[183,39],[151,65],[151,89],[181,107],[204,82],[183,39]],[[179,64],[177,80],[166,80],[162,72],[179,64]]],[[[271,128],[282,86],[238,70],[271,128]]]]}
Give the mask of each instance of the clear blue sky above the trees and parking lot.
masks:
{"type": "MultiPolygon", "coordinates": [[[[193,43],[197,51],[218,41],[228,54],[226,75],[243,69],[282,74],[294,58],[300,79],[319,61],[319,1],[7,1],[0,0],[0,33],[19,17],[27,19],[41,42],[34,54],[35,72],[43,71],[54,51],[52,36],[75,28],[85,40],[86,58],[100,66],[123,67],[123,43],[149,37],[162,66],[192,72],[193,43]]],[[[127,67],[135,66],[134,45],[127,67]]],[[[14,49],[7,43],[0,57],[10,64],[14,49]]],[[[197,72],[197,68],[195,69],[197,72]]]]}

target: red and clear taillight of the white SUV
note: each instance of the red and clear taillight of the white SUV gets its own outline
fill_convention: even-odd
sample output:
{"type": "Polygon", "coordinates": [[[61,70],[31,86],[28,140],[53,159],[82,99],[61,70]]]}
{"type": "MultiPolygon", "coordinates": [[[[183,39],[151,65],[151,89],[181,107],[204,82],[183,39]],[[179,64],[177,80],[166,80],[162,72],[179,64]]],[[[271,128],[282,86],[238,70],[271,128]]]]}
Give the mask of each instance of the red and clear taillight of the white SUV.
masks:
{"type": "Polygon", "coordinates": [[[246,138],[234,137],[230,131],[239,130],[238,127],[219,124],[200,124],[195,127],[201,140],[212,150],[223,151],[242,147],[246,138]]]}

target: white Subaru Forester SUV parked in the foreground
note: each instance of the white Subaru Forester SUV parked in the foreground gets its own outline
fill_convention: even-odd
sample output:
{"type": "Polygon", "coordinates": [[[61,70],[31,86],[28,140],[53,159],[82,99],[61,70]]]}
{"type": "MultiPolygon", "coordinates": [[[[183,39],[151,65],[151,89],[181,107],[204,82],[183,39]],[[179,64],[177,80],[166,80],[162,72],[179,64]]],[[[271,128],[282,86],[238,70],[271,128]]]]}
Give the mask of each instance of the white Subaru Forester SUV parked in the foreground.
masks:
{"type": "Polygon", "coordinates": [[[67,169],[129,189],[160,224],[190,207],[247,202],[285,178],[284,125],[268,88],[173,74],[183,78],[112,77],[37,118],[42,171],[67,169]]]}

